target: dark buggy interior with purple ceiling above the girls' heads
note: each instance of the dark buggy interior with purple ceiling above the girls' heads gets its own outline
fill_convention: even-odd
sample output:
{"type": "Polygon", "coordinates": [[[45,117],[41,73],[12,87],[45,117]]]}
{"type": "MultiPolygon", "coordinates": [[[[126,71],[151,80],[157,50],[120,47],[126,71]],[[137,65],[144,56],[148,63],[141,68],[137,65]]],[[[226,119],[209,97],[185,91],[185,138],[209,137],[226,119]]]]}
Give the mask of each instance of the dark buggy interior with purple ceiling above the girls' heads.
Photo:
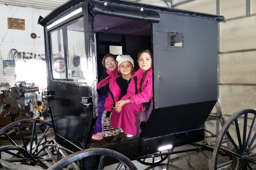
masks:
{"type": "Polygon", "coordinates": [[[151,48],[150,22],[97,14],[94,16],[94,32],[98,78],[101,77],[103,69],[101,61],[104,55],[111,53],[109,46],[110,48],[114,46],[114,49],[115,46],[121,46],[122,53],[119,54],[130,55],[135,61],[135,70],[139,68],[136,62],[138,51],[141,48],[151,48]]]}

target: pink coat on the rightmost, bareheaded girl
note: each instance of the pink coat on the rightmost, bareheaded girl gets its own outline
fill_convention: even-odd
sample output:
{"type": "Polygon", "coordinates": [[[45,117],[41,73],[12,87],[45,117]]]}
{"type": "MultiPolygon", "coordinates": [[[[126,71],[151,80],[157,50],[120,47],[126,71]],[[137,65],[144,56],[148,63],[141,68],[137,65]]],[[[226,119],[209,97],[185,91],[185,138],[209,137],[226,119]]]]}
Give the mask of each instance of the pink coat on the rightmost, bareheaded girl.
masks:
{"type": "Polygon", "coordinates": [[[130,85],[127,89],[127,94],[124,95],[121,98],[121,100],[130,99],[131,103],[134,103],[134,104],[141,104],[141,103],[146,103],[146,102],[150,101],[150,99],[153,97],[152,67],[149,69],[149,72],[147,73],[147,75],[144,79],[144,82],[143,82],[142,88],[141,88],[142,92],[139,92],[140,81],[141,81],[142,78],[143,78],[143,71],[141,69],[139,69],[132,76],[132,80],[131,80],[130,85]],[[135,76],[137,76],[137,78],[138,78],[138,81],[137,81],[138,94],[136,94],[136,95],[135,95],[135,82],[134,82],[134,79],[133,79],[133,77],[135,77],[135,76]]]}

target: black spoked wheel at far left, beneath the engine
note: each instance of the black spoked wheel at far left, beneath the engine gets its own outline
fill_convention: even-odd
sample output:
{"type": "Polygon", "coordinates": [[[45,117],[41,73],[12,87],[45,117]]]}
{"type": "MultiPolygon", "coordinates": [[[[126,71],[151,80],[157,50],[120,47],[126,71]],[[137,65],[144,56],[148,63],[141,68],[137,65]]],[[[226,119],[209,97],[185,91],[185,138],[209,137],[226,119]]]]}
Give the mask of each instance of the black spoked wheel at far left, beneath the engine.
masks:
{"type": "Polygon", "coordinates": [[[1,159],[15,162],[15,160],[21,160],[18,158],[33,156],[34,159],[31,158],[31,160],[35,162],[36,159],[45,155],[45,153],[40,154],[43,151],[40,147],[46,143],[46,135],[51,132],[53,132],[52,124],[39,119],[24,119],[5,126],[0,130],[0,139],[4,145],[8,146],[2,149],[1,159]],[[41,126],[44,126],[43,130],[41,126]],[[13,149],[12,146],[20,149],[13,149]]]}

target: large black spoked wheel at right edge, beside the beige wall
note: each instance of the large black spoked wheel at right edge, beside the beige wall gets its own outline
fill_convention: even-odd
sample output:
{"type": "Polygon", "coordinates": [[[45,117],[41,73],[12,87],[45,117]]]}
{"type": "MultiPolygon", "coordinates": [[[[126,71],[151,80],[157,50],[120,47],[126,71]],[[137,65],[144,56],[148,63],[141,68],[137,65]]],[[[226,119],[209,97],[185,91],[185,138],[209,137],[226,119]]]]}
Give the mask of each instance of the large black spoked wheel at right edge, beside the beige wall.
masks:
{"type": "Polygon", "coordinates": [[[255,169],[256,132],[253,131],[256,122],[256,110],[242,110],[229,117],[222,127],[212,153],[212,170],[252,170],[255,169]],[[247,131],[247,127],[250,129],[247,131]],[[233,148],[221,146],[227,135],[233,148]],[[221,154],[221,155],[219,155],[221,154]],[[228,156],[222,160],[221,156],[228,156]],[[221,159],[221,161],[220,161],[221,159]]]}

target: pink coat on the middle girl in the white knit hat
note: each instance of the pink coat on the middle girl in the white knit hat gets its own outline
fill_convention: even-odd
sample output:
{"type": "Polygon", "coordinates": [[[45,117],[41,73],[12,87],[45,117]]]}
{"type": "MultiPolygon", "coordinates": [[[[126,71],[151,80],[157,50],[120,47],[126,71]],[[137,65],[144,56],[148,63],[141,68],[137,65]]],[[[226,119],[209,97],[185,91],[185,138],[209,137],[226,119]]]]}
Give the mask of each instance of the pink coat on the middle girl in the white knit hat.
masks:
{"type": "MultiPolygon", "coordinates": [[[[120,77],[120,76],[122,76],[122,75],[119,75],[117,77],[120,77]]],[[[119,97],[120,97],[120,94],[121,94],[121,89],[119,88],[119,86],[116,83],[116,78],[117,77],[112,78],[112,79],[109,80],[109,89],[110,89],[110,91],[112,92],[112,94],[114,96],[115,102],[119,101],[119,97]]],[[[112,98],[111,94],[109,93],[108,97],[106,98],[106,102],[104,104],[105,110],[106,111],[112,111],[113,105],[114,105],[113,98],[112,98]]]]}

